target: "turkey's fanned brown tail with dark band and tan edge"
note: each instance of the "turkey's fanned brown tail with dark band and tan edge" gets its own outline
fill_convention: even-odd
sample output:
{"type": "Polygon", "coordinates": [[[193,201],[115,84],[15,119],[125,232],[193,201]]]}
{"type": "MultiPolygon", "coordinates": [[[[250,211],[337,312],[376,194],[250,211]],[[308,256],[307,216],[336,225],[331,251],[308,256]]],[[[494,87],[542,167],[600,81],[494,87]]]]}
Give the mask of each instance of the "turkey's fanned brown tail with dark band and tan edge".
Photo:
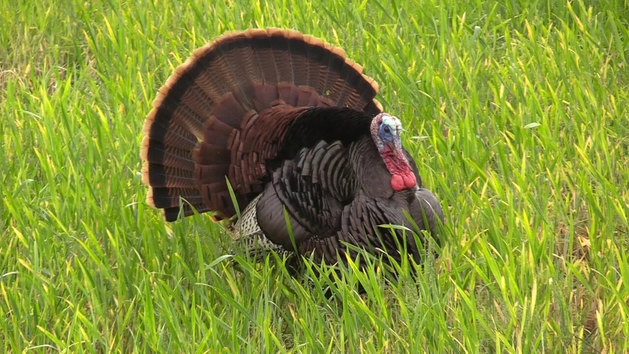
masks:
{"type": "Polygon", "coordinates": [[[192,52],[159,89],[140,153],[147,202],[180,214],[235,214],[262,190],[265,161],[277,155],[300,107],[348,106],[374,115],[377,84],[345,52],[298,31],[252,29],[192,52]]]}

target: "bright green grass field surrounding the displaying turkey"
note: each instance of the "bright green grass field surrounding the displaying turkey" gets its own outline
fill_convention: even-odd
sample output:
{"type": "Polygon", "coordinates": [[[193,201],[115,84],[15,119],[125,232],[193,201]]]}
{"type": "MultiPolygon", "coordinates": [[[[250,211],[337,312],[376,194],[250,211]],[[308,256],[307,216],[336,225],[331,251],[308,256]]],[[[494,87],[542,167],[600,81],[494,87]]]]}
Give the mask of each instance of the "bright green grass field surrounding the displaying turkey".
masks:
{"type": "Polygon", "coordinates": [[[0,0],[0,351],[626,353],[628,26],[626,0],[0,0]],[[146,205],[155,92],[252,26],[380,83],[447,218],[416,285],[243,276],[208,217],[146,205]]]}

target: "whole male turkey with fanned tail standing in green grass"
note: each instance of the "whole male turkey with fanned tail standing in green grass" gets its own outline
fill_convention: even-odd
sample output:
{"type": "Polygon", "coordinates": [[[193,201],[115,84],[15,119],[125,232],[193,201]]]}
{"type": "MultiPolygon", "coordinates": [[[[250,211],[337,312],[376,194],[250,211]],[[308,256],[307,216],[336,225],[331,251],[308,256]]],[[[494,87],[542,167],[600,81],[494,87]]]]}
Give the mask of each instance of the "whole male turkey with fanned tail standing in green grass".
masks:
{"type": "Polygon", "coordinates": [[[231,219],[234,241],[252,254],[257,244],[330,264],[349,251],[344,241],[399,259],[379,226],[410,227],[406,210],[434,234],[443,214],[376,93],[362,67],[317,38],[276,28],[223,35],[157,93],[142,142],[147,202],[169,222],[193,210],[231,219]]]}

